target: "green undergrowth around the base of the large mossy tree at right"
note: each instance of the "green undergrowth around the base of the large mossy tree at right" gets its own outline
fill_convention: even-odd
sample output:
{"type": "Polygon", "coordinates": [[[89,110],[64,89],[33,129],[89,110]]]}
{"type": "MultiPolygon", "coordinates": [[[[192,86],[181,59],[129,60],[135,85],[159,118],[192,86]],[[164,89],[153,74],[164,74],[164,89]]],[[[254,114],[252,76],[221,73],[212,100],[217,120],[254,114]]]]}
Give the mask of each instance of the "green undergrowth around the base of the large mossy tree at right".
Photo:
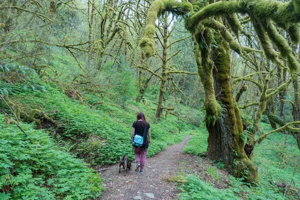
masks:
{"type": "MultiPolygon", "coordinates": [[[[260,122],[259,125],[258,134],[271,130],[269,124],[260,122]]],[[[272,133],[255,147],[254,163],[258,168],[260,185],[249,185],[238,178],[224,175],[221,160],[211,160],[211,166],[204,167],[205,164],[201,164],[204,158],[201,156],[205,155],[207,136],[204,125],[200,126],[183,149],[185,153],[198,156],[195,164],[199,168],[183,175],[182,178],[186,181],[179,184],[179,199],[299,198],[300,151],[291,135],[287,135],[284,144],[285,134],[272,133]],[[199,170],[202,172],[199,173],[199,170]],[[210,177],[208,180],[207,176],[210,177]],[[220,185],[223,185],[222,189],[219,188],[220,185]]]]}

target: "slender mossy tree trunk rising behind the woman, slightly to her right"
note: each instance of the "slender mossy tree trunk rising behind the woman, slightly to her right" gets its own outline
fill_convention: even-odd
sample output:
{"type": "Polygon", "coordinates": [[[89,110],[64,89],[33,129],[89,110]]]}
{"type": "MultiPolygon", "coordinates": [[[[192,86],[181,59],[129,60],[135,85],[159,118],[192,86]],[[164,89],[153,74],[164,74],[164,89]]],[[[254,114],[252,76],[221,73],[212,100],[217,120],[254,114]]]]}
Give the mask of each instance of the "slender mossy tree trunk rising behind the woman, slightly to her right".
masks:
{"type": "Polygon", "coordinates": [[[162,112],[162,100],[163,100],[163,92],[164,92],[164,85],[166,82],[166,55],[167,55],[167,15],[165,15],[164,24],[163,24],[163,45],[162,45],[162,64],[161,64],[161,82],[159,86],[159,97],[157,102],[157,109],[156,109],[156,117],[160,118],[162,112]]]}

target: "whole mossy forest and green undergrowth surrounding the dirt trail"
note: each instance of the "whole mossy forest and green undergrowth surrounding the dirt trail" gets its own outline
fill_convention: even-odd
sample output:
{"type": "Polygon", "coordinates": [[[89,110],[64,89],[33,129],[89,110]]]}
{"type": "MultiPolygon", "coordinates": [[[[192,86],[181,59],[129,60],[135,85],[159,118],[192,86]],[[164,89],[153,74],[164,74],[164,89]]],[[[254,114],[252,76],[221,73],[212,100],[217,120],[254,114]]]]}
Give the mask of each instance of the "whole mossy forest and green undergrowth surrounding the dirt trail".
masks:
{"type": "Polygon", "coordinates": [[[218,168],[232,175],[220,191],[188,176],[181,199],[299,198],[299,10],[299,0],[0,0],[0,198],[100,196],[91,168],[133,159],[139,111],[148,156],[194,133],[185,152],[210,158],[216,181],[218,168]]]}

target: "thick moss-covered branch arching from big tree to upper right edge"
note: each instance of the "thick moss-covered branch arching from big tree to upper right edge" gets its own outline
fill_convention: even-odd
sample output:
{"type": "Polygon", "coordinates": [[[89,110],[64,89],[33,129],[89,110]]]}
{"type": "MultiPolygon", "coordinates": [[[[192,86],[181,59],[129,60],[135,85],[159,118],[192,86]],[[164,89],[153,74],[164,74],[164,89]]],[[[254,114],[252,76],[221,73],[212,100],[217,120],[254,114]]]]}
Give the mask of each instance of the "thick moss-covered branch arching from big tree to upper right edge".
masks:
{"type": "Polygon", "coordinates": [[[290,0],[280,2],[277,0],[238,0],[218,1],[211,3],[185,21],[185,27],[193,31],[194,27],[209,16],[219,16],[232,13],[250,13],[256,18],[271,19],[279,24],[300,22],[300,2],[290,0]]]}

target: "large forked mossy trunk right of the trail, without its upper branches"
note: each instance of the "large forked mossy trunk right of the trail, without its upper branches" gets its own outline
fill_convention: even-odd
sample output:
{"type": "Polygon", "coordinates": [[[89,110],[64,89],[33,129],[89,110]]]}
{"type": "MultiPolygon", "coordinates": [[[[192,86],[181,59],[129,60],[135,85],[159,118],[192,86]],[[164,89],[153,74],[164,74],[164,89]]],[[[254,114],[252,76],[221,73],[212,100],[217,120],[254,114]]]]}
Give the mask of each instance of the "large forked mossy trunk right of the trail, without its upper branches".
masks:
{"type": "MultiPolygon", "coordinates": [[[[203,42],[202,37],[210,45],[210,31],[203,31],[203,36],[196,35],[196,40],[203,42]]],[[[229,84],[229,46],[221,38],[215,40],[218,42],[218,48],[212,49],[211,59],[208,45],[201,49],[200,56],[197,55],[200,47],[195,48],[198,73],[205,90],[206,128],[209,133],[207,156],[212,160],[222,159],[234,176],[246,177],[247,182],[259,182],[257,169],[243,148],[243,126],[229,84]],[[212,64],[207,64],[211,63],[211,60],[214,62],[214,69],[212,64]],[[214,88],[211,88],[211,84],[214,88]],[[217,100],[221,102],[221,106],[217,100]]]]}

